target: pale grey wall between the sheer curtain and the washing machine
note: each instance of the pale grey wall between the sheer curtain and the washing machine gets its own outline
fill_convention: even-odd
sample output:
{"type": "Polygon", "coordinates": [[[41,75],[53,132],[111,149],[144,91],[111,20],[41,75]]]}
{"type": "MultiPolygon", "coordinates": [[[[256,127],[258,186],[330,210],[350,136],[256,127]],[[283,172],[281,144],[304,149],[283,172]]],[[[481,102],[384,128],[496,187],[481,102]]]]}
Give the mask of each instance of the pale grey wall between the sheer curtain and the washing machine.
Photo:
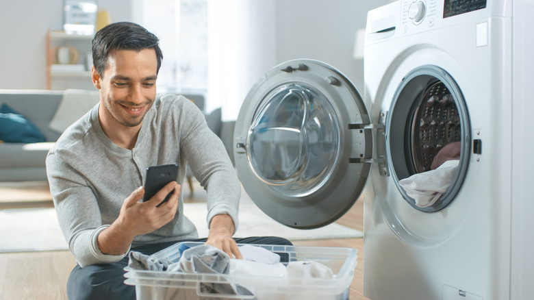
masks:
{"type": "Polygon", "coordinates": [[[277,63],[321,60],[344,73],[364,97],[364,60],[353,58],[367,12],[393,0],[277,0],[277,63]]]}

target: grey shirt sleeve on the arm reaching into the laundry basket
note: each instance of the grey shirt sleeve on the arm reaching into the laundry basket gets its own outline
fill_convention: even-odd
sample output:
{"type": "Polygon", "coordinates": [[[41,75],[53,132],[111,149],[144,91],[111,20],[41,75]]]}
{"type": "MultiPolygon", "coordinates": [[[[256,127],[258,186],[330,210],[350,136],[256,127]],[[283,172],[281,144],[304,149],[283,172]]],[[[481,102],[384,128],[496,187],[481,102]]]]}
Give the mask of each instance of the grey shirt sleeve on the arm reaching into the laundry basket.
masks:
{"type": "Polygon", "coordinates": [[[192,173],[207,191],[207,225],[217,214],[228,214],[237,231],[241,184],[236,171],[223,141],[207,127],[202,112],[187,102],[181,118],[188,126],[183,129],[180,145],[192,173]]]}

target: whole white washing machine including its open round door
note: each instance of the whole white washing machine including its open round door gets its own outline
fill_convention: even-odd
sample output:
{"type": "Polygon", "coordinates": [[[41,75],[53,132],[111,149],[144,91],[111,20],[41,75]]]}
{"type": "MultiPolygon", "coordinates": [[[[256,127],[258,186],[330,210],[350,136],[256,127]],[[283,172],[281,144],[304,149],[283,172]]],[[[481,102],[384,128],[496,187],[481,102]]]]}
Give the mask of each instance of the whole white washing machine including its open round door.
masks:
{"type": "Polygon", "coordinates": [[[234,130],[247,194],[299,229],[332,223],[363,199],[371,299],[533,295],[532,2],[403,0],[372,10],[364,91],[316,60],[272,68],[234,130]],[[444,184],[421,201],[403,184],[414,177],[444,184]]]}

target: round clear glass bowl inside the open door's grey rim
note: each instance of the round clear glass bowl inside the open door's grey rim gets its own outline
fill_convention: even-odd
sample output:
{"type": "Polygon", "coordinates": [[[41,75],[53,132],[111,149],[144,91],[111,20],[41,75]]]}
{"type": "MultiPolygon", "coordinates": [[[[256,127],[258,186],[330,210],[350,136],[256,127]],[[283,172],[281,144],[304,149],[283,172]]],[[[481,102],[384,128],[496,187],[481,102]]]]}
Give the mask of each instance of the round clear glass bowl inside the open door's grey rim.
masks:
{"type": "Polygon", "coordinates": [[[247,134],[255,175],[283,195],[323,186],[338,160],[339,121],[329,100],[306,84],[272,90],[247,134]]]}

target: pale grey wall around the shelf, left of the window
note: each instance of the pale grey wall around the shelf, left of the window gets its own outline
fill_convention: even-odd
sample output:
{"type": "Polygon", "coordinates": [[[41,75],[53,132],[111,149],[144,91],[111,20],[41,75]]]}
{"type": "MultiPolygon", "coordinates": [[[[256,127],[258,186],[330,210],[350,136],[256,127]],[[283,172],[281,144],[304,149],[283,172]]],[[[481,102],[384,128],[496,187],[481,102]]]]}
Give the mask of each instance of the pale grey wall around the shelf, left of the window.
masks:
{"type": "MultiPolygon", "coordinates": [[[[131,21],[130,0],[99,0],[112,21],[131,21]]],[[[62,29],[63,0],[2,1],[0,89],[46,88],[47,30],[62,29]]]]}

